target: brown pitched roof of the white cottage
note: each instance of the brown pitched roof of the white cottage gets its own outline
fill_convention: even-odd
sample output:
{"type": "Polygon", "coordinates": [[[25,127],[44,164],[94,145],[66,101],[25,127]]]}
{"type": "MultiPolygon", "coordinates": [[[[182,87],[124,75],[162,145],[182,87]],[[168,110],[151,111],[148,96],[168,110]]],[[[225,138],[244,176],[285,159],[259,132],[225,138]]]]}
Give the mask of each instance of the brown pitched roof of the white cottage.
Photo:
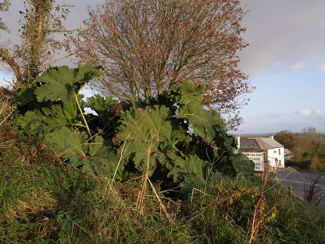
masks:
{"type": "Polygon", "coordinates": [[[283,147],[271,137],[248,137],[240,138],[240,149],[272,149],[283,147]]]}

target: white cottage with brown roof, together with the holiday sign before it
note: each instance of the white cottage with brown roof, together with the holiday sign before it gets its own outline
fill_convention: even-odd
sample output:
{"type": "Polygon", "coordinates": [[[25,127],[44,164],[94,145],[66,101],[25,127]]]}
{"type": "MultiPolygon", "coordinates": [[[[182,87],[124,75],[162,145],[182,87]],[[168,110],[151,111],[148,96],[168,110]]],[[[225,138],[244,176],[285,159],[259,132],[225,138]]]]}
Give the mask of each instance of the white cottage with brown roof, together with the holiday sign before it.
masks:
{"type": "Polygon", "coordinates": [[[265,164],[284,167],[284,146],[271,137],[240,137],[238,151],[255,163],[256,171],[263,171],[265,164]]]}

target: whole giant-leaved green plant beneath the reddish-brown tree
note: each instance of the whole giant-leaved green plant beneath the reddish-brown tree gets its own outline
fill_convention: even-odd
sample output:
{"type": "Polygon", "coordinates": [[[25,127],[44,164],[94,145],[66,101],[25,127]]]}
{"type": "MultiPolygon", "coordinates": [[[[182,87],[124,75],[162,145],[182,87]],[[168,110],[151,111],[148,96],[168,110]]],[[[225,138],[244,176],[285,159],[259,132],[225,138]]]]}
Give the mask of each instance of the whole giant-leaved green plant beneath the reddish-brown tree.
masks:
{"type": "Polygon", "coordinates": [[[125,180],[147,173],[182,182],[183,193],[212,186],[222,175],[252,175],[253,163],[234,154],[236,141],[220,115],[204,107],[204,85],[183,80],[149,104],[138,99],[124,106],[100,95],[84,102],[79,90],[101,74],[91,65],[50,68],[22,89],[16,104],[27,112],[17,125],[29,135],[43,128],[64,162],[96,175],[125,180]],[[98,116],[83,115],[84,107],[98,116]],[[101,136],[90,136],[96,130],[101,136]]]}

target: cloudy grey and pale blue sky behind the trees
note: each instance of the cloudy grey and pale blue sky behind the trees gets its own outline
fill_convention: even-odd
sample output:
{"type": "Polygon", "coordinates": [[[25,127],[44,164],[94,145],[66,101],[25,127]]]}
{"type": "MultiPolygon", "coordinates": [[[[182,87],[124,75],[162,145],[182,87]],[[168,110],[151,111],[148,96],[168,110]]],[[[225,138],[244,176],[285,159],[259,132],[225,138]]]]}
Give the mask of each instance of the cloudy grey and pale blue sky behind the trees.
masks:
{"type": "MultiPolygon", "coordinates": [[[[57,3],[76,5],[66,25],[77,28],[87,18],[87,6],[95,7],[103,1],[57,3]]],[[[12,0],[10,14],[0,13],[12,30],[12,43],[17,42],[22,2],[12,0]]],[[[250,101],[241,109],[239,132],[300,132],[308,126],[325,132],[325,1],[241,0],[241,5],[246,11],[243,38],[249,46],[238,53],[239,68],[256,89],[246,96],[250,101]]],[[[8,37],[0,32],[0,40],[8,37]]],[[[0,84],[4,76],[10,80],[0,67],[0,84]]]]}

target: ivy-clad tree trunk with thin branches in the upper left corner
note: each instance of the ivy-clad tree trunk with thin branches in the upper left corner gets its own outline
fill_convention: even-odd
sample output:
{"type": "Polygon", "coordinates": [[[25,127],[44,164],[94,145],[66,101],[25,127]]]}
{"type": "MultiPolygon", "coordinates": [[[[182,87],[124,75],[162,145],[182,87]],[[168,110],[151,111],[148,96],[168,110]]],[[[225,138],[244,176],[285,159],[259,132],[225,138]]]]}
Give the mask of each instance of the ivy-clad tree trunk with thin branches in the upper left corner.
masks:
{"type": "MultiPolygon", "coordinates": [[[[52,62],[55,53],[65,45],[57,40],[57,33],[67,31],[62,20],[69,14],[67,7],[72,5],[55,5],[55,0],[21,1],[25,10],[20,11],[19,21],[21,44],[11,46],[8,42],[0,45],[0,65],[7,67],[14,75],[17,86],[29,85],[52,62]]],[[[8,10],[8,0],[0,3],[1,10],[8,10]]],[[[4,22],[0,22],[7,31],[4,22]]]]}

